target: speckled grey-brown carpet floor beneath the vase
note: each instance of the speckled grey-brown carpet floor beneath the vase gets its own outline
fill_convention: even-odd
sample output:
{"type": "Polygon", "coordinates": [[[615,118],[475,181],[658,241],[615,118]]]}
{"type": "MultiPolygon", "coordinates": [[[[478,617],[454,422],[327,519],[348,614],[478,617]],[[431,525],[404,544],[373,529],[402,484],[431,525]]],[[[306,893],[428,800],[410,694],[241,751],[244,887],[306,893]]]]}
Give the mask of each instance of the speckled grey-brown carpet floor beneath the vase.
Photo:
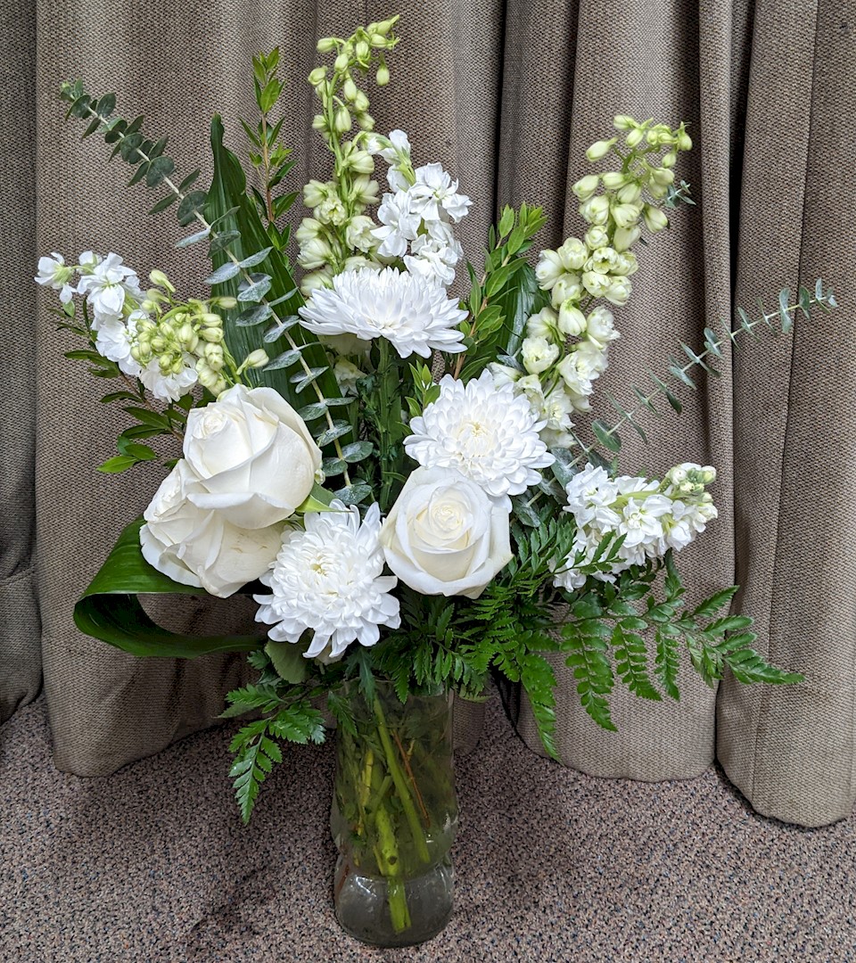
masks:
{"type": "Polygon", "coordinates": [[[79,779],[53,768],[39,699],[0,729],[0,960],[856,961],[854,820],[765,820],[714,769],[559,768],[496,702],[485,726],[456,768],[452,922],[373,950],[333,915],[329,745],[286,751],[244,828],[230,729],[79,779]]]}

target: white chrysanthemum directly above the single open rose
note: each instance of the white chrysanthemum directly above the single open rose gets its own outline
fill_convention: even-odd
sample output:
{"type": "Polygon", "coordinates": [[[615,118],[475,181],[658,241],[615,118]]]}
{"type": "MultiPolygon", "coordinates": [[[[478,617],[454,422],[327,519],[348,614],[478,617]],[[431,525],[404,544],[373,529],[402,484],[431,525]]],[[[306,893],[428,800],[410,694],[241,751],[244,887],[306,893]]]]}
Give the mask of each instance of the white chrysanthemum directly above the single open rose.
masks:
{"type": "Polygon", "coordinates": [[[519,495],[556,460],[538,437],[544,422],[511,384],[497,387],[490,371],[466,387],[447,375],[440,397],[410,422],[411,458],[428,468],[456,468],[494,498],[519,495]]]}

